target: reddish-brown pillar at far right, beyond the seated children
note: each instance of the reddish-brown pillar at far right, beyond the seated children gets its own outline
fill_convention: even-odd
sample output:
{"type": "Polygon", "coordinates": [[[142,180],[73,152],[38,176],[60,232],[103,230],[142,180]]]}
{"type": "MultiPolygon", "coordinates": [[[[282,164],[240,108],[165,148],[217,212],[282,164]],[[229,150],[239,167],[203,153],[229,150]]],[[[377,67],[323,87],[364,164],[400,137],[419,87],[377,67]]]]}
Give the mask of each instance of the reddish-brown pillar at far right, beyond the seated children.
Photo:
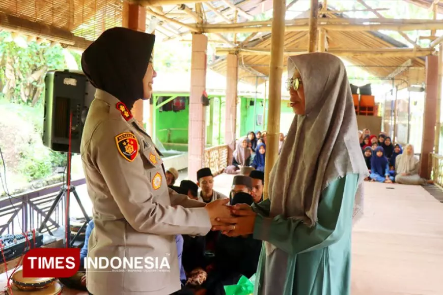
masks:
{"type": "Polygon", "coordinates": [[[426,56],[426,94],[423,117],[423,139],[420,163],[420,175],[423,178],[430,178],[429,154],[434,149],[435,122],[438,92],[438,56],[426,56]]]}

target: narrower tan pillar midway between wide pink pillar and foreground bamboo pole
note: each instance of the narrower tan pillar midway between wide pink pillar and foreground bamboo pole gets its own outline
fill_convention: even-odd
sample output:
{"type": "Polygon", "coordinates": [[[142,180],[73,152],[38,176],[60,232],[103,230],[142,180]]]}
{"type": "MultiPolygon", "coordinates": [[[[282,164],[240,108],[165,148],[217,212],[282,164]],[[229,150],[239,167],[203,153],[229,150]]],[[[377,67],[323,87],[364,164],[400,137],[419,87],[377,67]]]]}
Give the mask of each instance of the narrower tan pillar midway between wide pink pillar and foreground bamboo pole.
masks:
{"type": "Polygon", "coordinates": [[[228,54],[226,71],[225,144],[236,139],[238,56],[228,54]]]}

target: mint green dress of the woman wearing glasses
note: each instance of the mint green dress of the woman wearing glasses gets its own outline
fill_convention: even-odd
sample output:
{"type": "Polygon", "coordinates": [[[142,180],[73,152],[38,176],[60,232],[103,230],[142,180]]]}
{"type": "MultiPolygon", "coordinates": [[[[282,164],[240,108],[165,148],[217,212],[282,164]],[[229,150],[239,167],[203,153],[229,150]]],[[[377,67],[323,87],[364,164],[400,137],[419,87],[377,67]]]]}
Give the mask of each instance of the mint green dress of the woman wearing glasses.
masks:
{"type": "Polygon", "coordinates": [[[350,294],[352,213],[358,181],[359,174],[347,174],[323,190],[318,222],[312,228],[283,216],[269,218],[269,200],[253,206],[258,213],[254,238],[276,247],[268,256],[262,247],[255,294],[350,294]]]}

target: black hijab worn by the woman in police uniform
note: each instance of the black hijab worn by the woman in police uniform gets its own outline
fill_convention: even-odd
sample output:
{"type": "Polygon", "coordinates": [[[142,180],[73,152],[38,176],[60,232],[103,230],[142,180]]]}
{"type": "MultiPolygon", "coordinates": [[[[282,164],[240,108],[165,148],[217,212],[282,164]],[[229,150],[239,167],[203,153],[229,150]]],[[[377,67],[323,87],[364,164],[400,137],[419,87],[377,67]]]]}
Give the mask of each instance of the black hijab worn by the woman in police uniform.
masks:
{"type": "Polygon", "coordinates": [[[143,98],[143,77],[155,35],[124,27],[104,31],[81,55],[81,68],[91,83],[129,109],[143,98]]]}

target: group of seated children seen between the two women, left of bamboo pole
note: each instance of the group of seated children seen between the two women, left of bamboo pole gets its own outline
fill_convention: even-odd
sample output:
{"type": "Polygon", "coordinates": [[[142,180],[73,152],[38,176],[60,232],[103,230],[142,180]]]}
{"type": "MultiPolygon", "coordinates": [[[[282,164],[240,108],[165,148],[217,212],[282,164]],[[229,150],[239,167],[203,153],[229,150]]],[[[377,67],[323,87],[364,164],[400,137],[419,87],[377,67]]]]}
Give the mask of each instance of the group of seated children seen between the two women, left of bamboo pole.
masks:
{"type": "MultiPolygon", "coordinates": [[[[279,154],[282,150],[285,136],[280,133],[279,154]]],[[[242,167],[252,167],[264,171],[266,158],[266,132],[250,131],[235,143],[232,165],[225,169],[228,174],[237,174],[242,167]]]]}

